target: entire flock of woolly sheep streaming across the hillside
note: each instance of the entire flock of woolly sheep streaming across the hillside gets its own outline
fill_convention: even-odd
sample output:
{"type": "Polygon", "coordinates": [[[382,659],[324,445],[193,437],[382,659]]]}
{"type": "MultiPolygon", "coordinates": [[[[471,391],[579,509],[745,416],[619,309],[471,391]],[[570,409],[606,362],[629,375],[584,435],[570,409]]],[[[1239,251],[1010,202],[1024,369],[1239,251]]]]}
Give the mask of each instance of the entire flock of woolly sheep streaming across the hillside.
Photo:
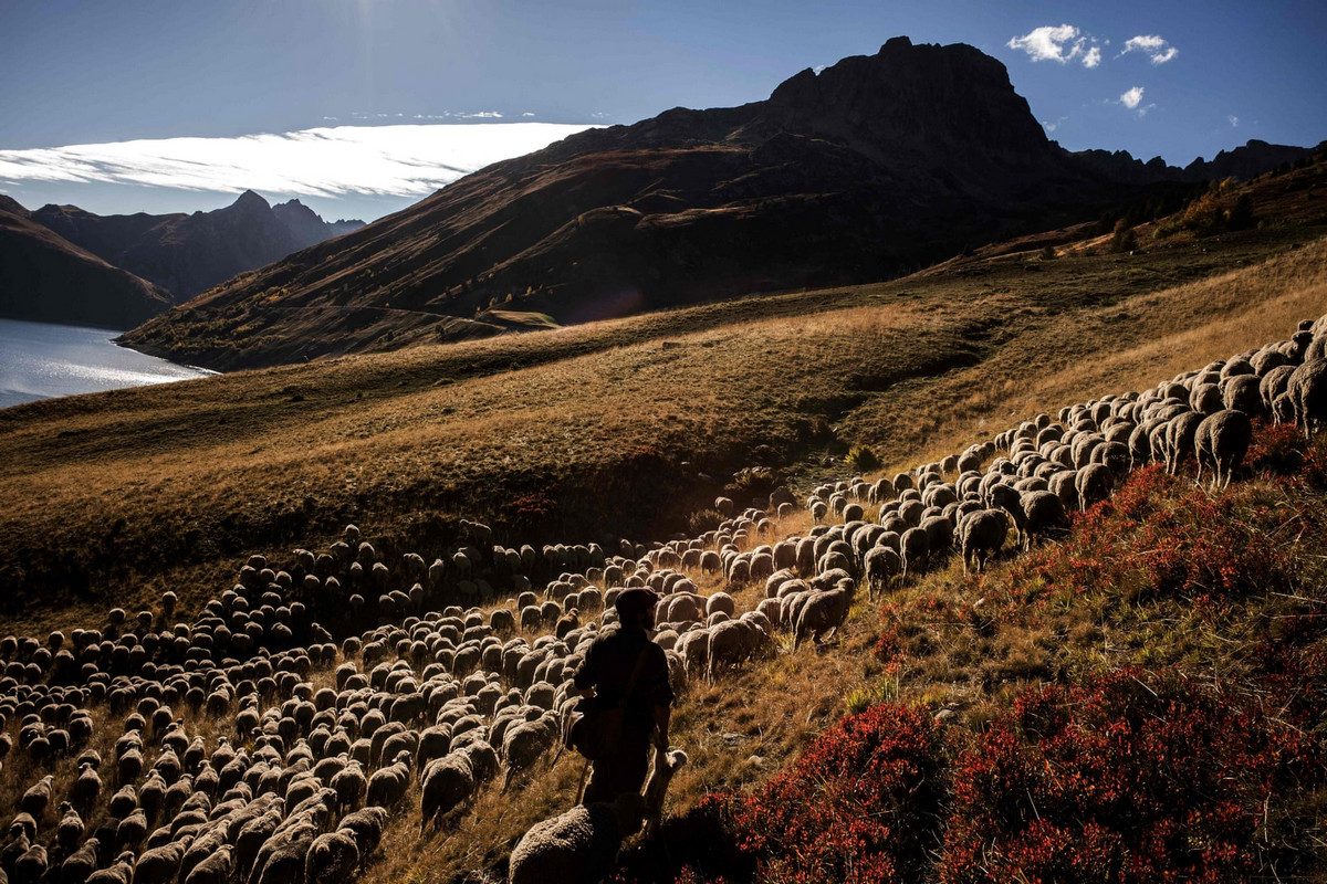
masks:
{"type": "MultiPolygon", "coordinates": [[[[1327,419],[1324,343],[1327,317],[940,463],[823,485],[804,537],[778,537],[798,509],[786,489],[742,512],[719,498],[723,521],[702,537],[612,551],[507,549],[466,522],[431,565],[386,562],[349,526],[284,567],[252,557],[191,616],[167,592],[97,628],[5,637],[0,783],[16,803],[0,884],[352,880],[413,795],[426,838],[556,751],[571,677],[622,588],[660,595],[656,641],[678,687],[721,677],[779,652],[780,634],[796,648],[840,628],[861,583],[874,594],[953,551],[982,567],[1011,531],[1027,546],[1063,530],[1141,464],[1196,460],[1229,482],[1253,419],[1306,433],[1327,419]],[[739,604],[752,584],[759,600],[739,604]],[[365,622],[340,641],[325,626],[365,622]]],[[[658,819],[685,761],[658,753],[644,797],[532,828],[510,880],[597,880],[658,819]]]]}

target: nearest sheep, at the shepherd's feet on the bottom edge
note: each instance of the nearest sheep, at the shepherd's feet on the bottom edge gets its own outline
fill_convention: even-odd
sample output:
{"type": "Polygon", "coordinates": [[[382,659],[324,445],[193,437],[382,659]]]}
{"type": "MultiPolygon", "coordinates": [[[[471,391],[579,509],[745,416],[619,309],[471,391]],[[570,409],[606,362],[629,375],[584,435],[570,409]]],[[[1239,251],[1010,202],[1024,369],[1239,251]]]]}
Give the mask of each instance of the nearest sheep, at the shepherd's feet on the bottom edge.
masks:
{"type": "Polygon", "coordinates": [[[612,804],[577,804],[536,823],[511,852],[507,884],[597,884],[613,868],[622,840],[641,828],[645,799],[621,795],[612,804]]]}

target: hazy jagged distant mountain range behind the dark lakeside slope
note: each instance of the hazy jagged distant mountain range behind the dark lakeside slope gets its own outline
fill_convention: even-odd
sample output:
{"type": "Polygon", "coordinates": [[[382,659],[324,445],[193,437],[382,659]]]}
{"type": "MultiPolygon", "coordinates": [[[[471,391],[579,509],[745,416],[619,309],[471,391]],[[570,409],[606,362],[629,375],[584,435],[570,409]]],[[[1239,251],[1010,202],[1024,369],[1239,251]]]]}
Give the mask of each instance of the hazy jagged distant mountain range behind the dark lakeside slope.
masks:
{"type": "Polygon", "coordinates": [[[107,215],[44,205],[29,215],[74,245],[186,301],[238,273],[322,243],[360,221],[326,224],[299,200],[269,205],[253,191],[214,212],[107,215]]]}

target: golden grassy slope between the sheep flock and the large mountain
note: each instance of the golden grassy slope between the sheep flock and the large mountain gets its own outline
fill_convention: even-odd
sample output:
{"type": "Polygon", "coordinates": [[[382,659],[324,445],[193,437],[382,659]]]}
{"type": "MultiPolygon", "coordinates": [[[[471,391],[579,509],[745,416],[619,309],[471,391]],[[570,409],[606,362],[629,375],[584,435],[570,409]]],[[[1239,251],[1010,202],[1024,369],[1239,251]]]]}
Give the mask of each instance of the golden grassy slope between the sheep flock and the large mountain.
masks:
{"type": "Polygon", "coordinates": [[[350,521],[389,554],[462,517],[518,545],[662,537],[726,486],[747,502],[760,489],[731,481],[752,464],[799,478],[849,444],[951,449],[1318,315],[1323,175],[1255,183],[1258,229],[1144,225],[1132,254],[1079,231],[882,285],[9,408],[0,610],[194,598],[350,521]]]}

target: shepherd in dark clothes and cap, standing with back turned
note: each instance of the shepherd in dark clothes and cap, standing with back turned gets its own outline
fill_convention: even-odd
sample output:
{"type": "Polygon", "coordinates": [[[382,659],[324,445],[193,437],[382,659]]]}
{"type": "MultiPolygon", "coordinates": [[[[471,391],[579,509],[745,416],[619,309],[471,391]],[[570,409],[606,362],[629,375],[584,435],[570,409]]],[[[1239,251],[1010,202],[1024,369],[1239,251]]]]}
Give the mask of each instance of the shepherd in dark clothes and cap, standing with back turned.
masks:
{"type": "Polygon", "coordinates": [[[633,587],[613,603],[618,624],[604,630],[576,671],[575,684],[581,702],[591,704],[600,746],[592,753],[593,767],[583,804],[609,802],[628,793],[640,794],[650,763],[650,744],[667,750],[669,718],[673,714],[673,688],[669,685],[667,657],[654,644],[658,596],[633,587]]]}

